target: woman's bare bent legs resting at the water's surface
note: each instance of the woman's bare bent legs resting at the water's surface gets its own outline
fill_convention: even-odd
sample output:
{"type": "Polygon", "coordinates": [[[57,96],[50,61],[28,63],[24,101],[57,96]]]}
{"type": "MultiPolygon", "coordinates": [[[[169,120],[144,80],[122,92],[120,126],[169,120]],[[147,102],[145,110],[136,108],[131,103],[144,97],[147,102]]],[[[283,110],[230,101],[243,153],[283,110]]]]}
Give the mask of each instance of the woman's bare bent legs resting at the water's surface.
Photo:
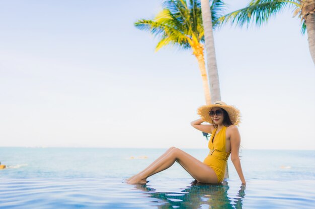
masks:
{"type": "Polygon", "coordinates": [[[145,183],[147,177],[171,167],[176,161],[197,181],[202,183],[218,182],[217,176],[212,168],[188,153],[178,148],[173,148],[151,167],[130,179],[128,183],[145,183]]]}

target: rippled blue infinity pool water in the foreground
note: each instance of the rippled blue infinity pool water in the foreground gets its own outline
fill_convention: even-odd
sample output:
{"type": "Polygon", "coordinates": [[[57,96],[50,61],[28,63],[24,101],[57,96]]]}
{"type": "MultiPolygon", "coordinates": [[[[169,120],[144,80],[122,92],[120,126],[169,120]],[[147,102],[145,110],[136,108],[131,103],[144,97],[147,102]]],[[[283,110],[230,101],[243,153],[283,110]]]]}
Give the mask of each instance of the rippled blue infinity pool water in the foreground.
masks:
{"type": "Polygon", "coordinates": [[[313,208],[314,180],[250,179],[245,186],[191,179],[0,178],[0,208],[313,208]]]}

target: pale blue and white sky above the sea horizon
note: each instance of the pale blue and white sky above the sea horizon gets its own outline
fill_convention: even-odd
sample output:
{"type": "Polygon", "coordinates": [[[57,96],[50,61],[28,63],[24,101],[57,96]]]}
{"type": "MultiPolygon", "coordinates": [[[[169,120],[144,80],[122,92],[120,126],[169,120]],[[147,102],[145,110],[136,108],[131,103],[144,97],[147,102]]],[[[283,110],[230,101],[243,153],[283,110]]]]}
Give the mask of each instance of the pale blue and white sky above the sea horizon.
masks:
{"type": "MultiPolygon", "coordinates": [[[[225,1],[226,12],[248,0],[225,1]]],[[[161,0],[0,0],[0,146],[206,148],[196,58],[134,27],[161,0]]],[[[300,21],[214,32],[243,149],[315,149],[315,69],[300,21]]]]}

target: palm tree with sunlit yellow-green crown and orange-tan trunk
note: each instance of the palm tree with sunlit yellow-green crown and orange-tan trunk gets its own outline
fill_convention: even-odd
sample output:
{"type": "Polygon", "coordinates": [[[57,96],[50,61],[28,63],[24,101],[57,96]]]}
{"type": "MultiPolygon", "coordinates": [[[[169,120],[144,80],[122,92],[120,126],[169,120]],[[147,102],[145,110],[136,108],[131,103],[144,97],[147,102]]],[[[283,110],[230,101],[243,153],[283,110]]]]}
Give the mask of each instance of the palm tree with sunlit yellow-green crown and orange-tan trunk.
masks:
{"type": "MultiPolygon", "coordinates": [[[[221,0],[213,0],[211,5],[212,22],[218,20],[223,9],[224,4],[221,0]]],[[[206,104],[211,104],[203,54],[204,29],[200,0],[167,0],[163,3],[163,10],[153,20],[141,19],[134,25],[140,30],[149,31],[159,37],[160,41],[156,45],[155,51],[167,45],[192,50],[198,61],[206,104]]]]}

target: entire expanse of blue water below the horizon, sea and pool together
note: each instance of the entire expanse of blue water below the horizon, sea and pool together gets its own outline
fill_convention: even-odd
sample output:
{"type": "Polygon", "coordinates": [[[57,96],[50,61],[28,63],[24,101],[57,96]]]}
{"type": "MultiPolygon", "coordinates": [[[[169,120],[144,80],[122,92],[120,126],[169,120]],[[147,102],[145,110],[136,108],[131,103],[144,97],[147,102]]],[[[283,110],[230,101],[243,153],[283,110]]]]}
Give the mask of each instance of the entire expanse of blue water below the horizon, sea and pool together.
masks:
{"type": "MultiPolygon", "coordinates": [[[[0,208],[314,208],[315,151],[247,150],[242,186],[200,184],[177,163],[146,185],[124,182],[166,149],[0,147],[0,208]]],[[[184,149],[203,160],[207,149],[184,149]]]]}

